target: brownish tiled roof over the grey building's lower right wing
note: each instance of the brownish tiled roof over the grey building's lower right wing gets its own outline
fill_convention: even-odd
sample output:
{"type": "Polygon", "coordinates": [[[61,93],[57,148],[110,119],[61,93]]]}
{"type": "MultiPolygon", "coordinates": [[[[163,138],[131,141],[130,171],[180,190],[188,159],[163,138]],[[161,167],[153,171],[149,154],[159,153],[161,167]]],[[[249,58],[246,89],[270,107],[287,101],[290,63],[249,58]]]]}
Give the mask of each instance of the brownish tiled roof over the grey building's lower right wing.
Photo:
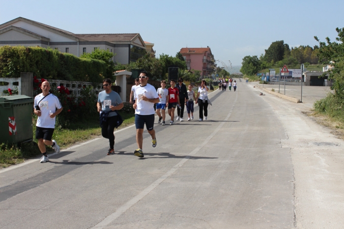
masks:
{"type": "Polygon", "coordinates": [[[74,34],[87,41],[131,41],[139,33],[103,33],[103,34],[74,34]]]}

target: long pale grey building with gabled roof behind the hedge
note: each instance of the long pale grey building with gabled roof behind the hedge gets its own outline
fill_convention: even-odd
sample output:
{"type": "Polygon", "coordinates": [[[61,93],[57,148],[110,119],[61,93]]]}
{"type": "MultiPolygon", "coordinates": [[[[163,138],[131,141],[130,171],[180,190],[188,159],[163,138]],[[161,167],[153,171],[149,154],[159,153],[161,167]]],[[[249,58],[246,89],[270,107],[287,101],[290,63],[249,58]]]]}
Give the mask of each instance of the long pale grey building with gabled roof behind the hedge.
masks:
{"type": "MultiPolygon", "coordinates": [[[[149,44],[152,51],[154,44],[149,44]]],[[[99,48],[115,53],[113,60],[121,64],[136,61],[147,50],[140,33],[75,34],[22,17],[0,25],[0,46],[4,45],[51,47],[77,57],[99,48]]]]}

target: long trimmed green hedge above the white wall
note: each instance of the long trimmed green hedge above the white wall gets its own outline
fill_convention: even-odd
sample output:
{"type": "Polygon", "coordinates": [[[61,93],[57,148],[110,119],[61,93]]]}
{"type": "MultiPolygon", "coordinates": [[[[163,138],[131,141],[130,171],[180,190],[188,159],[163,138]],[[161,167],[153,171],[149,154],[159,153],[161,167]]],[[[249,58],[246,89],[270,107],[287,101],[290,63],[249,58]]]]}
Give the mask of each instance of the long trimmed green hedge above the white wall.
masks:
{"type": "Polygon", "coordinates": [[[37,78],[101,83],[108,78],[106,69],[102,60],[79,58],[50,48],[0,47],[0,77],[32,72],[37,78]]]}

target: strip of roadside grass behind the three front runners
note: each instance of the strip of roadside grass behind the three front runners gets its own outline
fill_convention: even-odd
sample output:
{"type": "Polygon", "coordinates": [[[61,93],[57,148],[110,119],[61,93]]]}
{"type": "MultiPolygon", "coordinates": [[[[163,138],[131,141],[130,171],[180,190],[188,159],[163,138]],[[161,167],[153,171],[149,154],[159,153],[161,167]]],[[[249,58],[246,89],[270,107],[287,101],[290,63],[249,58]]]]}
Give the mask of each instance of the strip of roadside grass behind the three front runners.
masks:
{"type": "MultiPolygon", "coordinates": [[[[134,123],[135,114],[121,113],[123,118],[122,125],[118,128],[124,128],[134,123]]],[[[37,117],[34,115],[32,118],[32,131],[35,136],[37,117]]],[[[62,125],[58,123],[55,128],[53,139],[55,139],[61,148],[66,148],[78,142],[84,142],[96,137],[101,136],[101,130],[99,127],[98,115],[87,119],[85,122],[71,123],[68,128],[62,128],[62,125]]],[[[47,147],[47,151],[52,152],[51,147],[47,147]]],[[[41,152],[37,145],[37,140],[33,139],[32,142],[22,144],[0,144],[0,168],[5,168],[10,165],[19,164],[30,157],[40,155],[41,152]]]]}

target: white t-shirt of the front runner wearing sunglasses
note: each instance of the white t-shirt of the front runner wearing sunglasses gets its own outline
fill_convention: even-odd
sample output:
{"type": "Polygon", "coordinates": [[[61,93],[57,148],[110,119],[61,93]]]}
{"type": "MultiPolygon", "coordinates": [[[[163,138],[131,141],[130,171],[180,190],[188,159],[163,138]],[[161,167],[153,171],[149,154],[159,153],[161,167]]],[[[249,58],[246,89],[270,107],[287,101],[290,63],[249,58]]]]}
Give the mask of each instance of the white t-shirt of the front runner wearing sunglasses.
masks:
{"type": "Polygon", "coordinates": [[[135,114],[142,114],[142,115],[149,115],[149,114],[155,114],[154,111],[154,103],[144,101],[142,100],[143,95],[147,97],[148,99],[156,99],[159,98],[158,93],[155,90],[155,87],[147,84],[145,86],[136,86],[135,92],[137,95],[136,98],[136,109],[135,114]]]}

